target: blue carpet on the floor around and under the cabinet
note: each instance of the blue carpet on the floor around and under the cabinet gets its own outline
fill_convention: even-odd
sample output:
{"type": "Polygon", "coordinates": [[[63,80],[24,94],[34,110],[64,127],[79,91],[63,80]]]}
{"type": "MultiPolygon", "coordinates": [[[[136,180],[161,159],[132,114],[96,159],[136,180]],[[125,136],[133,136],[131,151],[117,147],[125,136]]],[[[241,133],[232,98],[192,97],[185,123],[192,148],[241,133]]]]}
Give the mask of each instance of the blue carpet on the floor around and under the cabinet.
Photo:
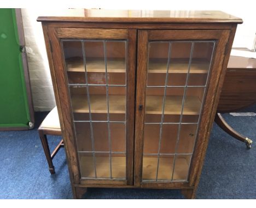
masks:
{"type": "MultiPolygon", "coordinates": [[[[243,112],[256,112],[256,106],[243,112]]],[[[54,158],[50,175],[37,127],[47,113],[36,113],[36,128],[0,132],[0,199],[71,199],[65,151],[54,158]]],[[[226,121],[252,138],[251,150],[213,125],[197,199],[256,199],[256,117],[233,117],[226,121]]],[[[61,137],[49,136],[51,150],[61,137]]],[[[87,199],[184,199],[178,190],[89,188],[87,199]]]]}

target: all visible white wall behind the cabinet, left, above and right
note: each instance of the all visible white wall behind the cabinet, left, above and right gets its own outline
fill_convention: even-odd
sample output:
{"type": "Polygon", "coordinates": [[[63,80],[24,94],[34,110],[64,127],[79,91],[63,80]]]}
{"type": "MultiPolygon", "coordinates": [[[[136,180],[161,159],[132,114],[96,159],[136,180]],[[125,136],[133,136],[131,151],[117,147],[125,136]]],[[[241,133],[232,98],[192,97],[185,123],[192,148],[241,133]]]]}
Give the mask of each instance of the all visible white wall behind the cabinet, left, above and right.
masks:
{"type": "MultiPolygon", "coordinates": [[[[253,1],[190,1],[183,2],[158,0],[153,2],[126,2],[123,5],[102,3],[95,8],[106,9],[149,9],[149,10],[222,10],[226,13],[241,17],[244,21],[237,28],[233,47],[253,47],[256,33],[256,12],[252,4],[253,1]],[[144,3],[144,4],[143,4],[144,3]]],[[[87,7],[89,8],[89,7],[87,7]]],[[[46,56],[42,26],[36,19],[44,15],[61,15],[63,10],[48,8],[22,9],[22,19],[26,39],[26,49],[28,57],[28,67],[30,70],[31,88],[35,111],[50,111],[55,106],[53,87],[50,78],[48,59],[46,56]]]]}

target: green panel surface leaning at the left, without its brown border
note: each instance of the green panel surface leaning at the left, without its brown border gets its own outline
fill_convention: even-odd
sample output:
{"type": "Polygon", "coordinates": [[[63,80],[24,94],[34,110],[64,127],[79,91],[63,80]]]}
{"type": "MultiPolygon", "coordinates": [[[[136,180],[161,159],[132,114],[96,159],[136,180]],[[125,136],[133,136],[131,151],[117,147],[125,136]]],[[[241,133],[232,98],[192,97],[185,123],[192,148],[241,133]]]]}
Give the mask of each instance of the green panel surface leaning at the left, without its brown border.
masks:
{"type": "Polygon", "coordinates": [[[30,122],[15,9],[0,9],[0,127],[30,122]]]}

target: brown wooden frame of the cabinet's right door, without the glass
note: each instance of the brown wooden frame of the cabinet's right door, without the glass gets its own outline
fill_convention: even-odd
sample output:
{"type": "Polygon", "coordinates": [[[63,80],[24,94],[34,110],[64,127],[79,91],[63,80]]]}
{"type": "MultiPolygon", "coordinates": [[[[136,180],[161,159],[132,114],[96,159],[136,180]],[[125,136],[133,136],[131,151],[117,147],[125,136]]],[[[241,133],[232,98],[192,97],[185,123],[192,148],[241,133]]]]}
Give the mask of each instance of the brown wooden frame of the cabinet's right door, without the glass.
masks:
{"type": "MultiPolygon", "coordinates": [[[[203,160],[202,152],[205,151],[206,141],[209,136],[213,119],[212,111],[216,111],[216,95],[220,75],[223,74],[224,56],[228,45],[230,30],[138,30],[137,45],[137,83],[136,83],[136,116],[135,116],[135,164],[134,181],[136,187],[187,187],[195,185],[196,175],[199,174],[199,163],[203,160]],[[199,132],[197,134],[191,166],[189,170],[188,182],[142,182],[142,159],[143,159],[143,128],[144,128],[144,107],[146,101],[147,65],[148,65],[148,42],[149,41],[183,41],[183,40],[216,40],[213,54],[213,62],[208,77],[205,102],[202,104],[201,121],[199,121],[199,132]],[[210,128],[209,128],[210,127],[210,128]]],[[[220,83],[222,85],[222,83],[220,83]]],[[[218,95],[217,95],[218,96],[218,95]]]]}

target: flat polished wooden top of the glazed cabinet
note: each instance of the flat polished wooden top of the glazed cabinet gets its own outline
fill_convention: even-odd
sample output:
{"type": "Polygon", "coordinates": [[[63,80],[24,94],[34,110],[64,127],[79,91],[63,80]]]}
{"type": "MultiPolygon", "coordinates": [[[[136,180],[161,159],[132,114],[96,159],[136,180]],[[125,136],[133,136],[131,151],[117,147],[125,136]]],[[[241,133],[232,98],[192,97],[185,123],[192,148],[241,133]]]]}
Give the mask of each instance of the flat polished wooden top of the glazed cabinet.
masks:
{"type": "Polygon", "coordinates": [[[104,10],[66,9],[59,16],[47,14],[37,21],[44,22],[165,22],[165,23],[242,23],[242,19],[222,11],[171,10],[104,10]]]}

